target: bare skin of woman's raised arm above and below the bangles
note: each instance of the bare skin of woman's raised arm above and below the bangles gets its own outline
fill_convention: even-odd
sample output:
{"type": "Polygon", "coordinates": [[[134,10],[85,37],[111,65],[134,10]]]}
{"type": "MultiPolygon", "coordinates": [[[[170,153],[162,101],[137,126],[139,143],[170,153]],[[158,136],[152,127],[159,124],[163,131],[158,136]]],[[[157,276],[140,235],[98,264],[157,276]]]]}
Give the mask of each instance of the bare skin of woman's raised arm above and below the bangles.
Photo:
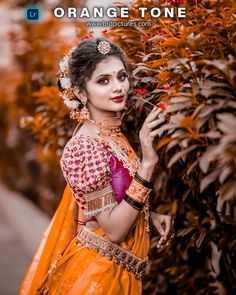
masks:
{"type": "MultiPolygon", "coordinates": [[[[155,165],[158,161],[157,154],[153,148],[154,137],[152,136],[151,129],[163,122],[163,119],[156,119],[159,113],[159,110],[157,111],[157,109],[154,109],[149,114],[139,134],[143,159],[137,172],[147,181],[151,180],[155,165]]],[[[123,200],[113,210],[106,210],[98,214],[96,218],[111,241],[121,242],[125,239],[139,213],[140,211],[134,209],[123,200]]]]}

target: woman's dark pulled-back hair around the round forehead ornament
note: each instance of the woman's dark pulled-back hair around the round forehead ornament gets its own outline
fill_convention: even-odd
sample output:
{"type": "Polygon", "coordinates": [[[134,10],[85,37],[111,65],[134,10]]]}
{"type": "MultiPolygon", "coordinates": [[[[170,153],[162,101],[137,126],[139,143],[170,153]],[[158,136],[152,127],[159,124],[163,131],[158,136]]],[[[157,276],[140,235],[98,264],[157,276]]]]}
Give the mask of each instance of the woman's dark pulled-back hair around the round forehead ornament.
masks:
{"type": "Polygon", "coordinates": [[[108,56],[116,56],[123,62],[124,67],[131,79],[131,64],[129,63],[124,51],[116,44],[104,38],[84,39],[73,50],[69,59],[69,76],[72,87],[78,87],[85,90],[86,82],[91,78],[97,64],[108,56]],[[101,54],[97,46],[101,41],[110,44],[110,51],[107,54],[101,54]]]}

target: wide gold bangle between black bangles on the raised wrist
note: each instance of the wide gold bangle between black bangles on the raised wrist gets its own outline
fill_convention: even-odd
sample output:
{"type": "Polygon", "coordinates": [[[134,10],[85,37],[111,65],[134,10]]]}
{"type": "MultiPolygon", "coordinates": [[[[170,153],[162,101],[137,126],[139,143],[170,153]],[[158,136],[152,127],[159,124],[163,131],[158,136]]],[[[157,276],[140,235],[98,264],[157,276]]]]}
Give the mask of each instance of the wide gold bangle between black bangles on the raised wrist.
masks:
{"type": "Polygon", "coordinates": [[[144,204],[151,193],[151,189],[143,186],[135,178],[133,178],[126,194],[133,200],[144,204]]]}

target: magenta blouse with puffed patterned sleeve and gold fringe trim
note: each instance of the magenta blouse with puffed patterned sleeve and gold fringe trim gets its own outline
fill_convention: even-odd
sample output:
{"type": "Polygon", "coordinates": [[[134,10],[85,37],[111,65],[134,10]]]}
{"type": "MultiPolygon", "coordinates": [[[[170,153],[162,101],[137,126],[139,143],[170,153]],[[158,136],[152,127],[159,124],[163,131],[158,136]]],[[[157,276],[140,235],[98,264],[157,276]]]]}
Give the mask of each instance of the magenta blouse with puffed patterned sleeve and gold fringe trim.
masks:
{"type": "Polygon", "coordinates": [[[132,176],[109,145],[98,138],[74,136],[66,145],[61,168],[73,196],[89,218],[119,204],[132,176]]]}

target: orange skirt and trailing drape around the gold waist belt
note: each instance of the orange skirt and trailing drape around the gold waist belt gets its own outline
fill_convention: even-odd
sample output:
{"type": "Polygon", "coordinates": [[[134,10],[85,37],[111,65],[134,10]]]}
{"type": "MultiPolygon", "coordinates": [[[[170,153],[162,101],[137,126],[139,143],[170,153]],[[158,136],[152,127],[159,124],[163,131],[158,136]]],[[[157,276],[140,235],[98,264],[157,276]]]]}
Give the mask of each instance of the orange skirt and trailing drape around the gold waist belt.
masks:
{"type": "MultiPolygon", "coordinates": [[[[78,210],[78,205],[67,186],[31,262],[19,294],[142,294],[141,279],[132,271],[124,268],[122,263],[118,264],[115,259],[109,260],[106,255],[102,256],[86,243],[78,242],[78,228],[75,222],[78,210]]],[[[118,245],[126,253],[144,262],[147,262],[150,245],[146,219],[145,212],[141,212],[126,241],[118,245]]],[[[80,228],[79,231],[83,229],[86,228],[80,228]]],[[[91,229],[89,231],[91,232],[91,229]]],[[[92,232],[105,241],[108,240],[101,228],[92,232]]]]}

